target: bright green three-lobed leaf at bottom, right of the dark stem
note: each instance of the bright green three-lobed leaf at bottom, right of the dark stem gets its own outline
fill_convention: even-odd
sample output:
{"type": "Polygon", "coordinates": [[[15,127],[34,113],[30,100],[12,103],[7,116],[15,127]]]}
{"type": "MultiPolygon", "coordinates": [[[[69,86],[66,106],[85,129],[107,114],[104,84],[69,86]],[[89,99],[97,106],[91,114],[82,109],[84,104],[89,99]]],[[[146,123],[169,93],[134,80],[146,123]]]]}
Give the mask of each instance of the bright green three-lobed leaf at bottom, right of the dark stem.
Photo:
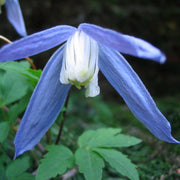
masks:
{"type": "Polygon", "coordinates": [[[128,147],[140,142],[137,138],[120,134],[119,129],[102,128],[87,131],[79,137],[80,149],[75,153],[76,163],[87,180],[101,179],[103,159],[120,174],[132,180],[138,180],[135,165],[125,155],[111,148],[128,147]]]}

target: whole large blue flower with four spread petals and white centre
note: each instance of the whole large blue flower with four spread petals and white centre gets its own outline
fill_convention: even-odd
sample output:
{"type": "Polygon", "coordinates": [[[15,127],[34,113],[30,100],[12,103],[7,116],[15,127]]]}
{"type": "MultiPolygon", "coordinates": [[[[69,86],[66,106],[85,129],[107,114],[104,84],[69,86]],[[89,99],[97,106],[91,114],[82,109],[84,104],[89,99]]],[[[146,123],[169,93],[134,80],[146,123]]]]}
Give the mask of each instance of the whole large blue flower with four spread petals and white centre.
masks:
{"type": "Polygon", "coordinates": [[[100,93],[99,69],[152,134],[160,140],[179,143],[171,135],[170,123],[119,53],[165,62],[165,55],[142,39],[92,24],[83,23],[78,28],[61,25],[2,47],[0,61],[32,56],[62,43],[46,64],[30,99],[16,134],[15,156],[32,149],[40,141],[56,120],[71,85],[84,86],[86,97],[100,93]]]}

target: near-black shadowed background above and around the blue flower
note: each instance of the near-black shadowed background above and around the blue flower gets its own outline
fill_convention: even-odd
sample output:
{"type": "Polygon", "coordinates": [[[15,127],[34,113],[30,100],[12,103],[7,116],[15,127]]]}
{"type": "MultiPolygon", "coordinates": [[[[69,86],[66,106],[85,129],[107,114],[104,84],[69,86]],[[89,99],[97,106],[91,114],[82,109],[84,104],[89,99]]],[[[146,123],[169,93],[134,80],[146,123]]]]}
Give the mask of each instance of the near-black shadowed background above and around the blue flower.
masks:
{"type": "MultiPolygon", "coordinates": [[[[112,28],[143,38],[159,47],[167,62],[127,56],[148,90],[155,97],[178,95],[180,90],[180,1],[179,0],[19,0],[28,34],[60,24],[78,26],[82,22],[112,28]]],[[[0,34],[11,40],[20,36],[0,15],[0,34]]],[[[0,41],[2,46],[4,43],[0,41]]],[[[43,68],[56,48],[32,57],[43,68]]],[[[100,76],[101,91],[106,98],[116,97],[107,81],[100,76]],[[107,96],[108,95],[108,96],[107,96]]],[[[119,96],[118,96],[119,97],[119,96]]]]}

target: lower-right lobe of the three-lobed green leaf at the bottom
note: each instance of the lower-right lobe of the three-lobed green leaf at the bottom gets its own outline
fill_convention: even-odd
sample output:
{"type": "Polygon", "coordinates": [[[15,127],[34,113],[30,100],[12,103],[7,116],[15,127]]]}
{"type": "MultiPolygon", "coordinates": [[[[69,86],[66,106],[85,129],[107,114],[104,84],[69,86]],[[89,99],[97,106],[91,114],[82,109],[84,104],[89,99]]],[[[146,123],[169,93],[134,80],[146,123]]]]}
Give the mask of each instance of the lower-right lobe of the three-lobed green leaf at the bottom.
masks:
{"type": "Polygon", "coordinates": [[[111,167],[123,176],[127,176],[131,180],[139,180],[136,166],[121,152],[105,148],[95,148],[94,151],[99,153],[111,167]]]}

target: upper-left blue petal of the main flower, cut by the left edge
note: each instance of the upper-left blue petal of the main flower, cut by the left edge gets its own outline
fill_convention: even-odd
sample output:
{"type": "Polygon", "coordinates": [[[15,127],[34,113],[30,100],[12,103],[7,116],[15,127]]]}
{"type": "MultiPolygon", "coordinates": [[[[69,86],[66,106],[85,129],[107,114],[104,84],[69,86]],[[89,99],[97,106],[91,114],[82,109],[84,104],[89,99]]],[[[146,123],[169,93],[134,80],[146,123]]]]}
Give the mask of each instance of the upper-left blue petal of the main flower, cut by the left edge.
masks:
{"type": "Polygon", "coordinates": [[[72,26],[56,26],[7,44],[0,49],[0,62],[17,60],[46,51],[66,41],[75,30],[76,28],[72,26]]]}

